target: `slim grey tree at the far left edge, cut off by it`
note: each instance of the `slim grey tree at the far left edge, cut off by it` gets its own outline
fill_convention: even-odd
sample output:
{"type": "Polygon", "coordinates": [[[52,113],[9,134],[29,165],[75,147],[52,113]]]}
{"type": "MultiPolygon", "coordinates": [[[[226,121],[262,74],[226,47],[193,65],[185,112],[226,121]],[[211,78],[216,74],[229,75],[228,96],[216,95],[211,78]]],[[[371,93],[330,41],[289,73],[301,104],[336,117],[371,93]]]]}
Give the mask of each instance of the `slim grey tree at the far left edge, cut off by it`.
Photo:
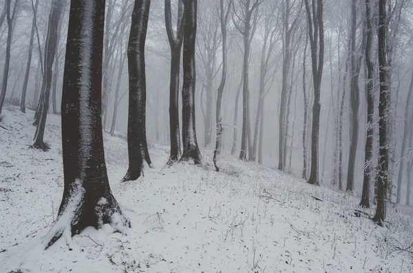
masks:
{"type": "Polygon", "coordinates": [[[9,74],[9,67],[10,67],[10,48],[12,46],[12,35],[13,35],[13,27],[12,21],[14,16],[16,15],[16,10],[18,6],[19,0],[14,1],[14,8],[12,14],[10,14],[10,9],[12,5],[12,0],[6,0],[6,20],[8,25],[8,32],[7,32],[7,46],[6,46],[6,61],[4,62],[3,68],[3,84],[1,85],[1,93],[0,93],[0,115],[1,110],[3,109],[4,99],[6,98],[6,91],[7,91],[7,83],[8,83],[8,74],[9,74]]]}

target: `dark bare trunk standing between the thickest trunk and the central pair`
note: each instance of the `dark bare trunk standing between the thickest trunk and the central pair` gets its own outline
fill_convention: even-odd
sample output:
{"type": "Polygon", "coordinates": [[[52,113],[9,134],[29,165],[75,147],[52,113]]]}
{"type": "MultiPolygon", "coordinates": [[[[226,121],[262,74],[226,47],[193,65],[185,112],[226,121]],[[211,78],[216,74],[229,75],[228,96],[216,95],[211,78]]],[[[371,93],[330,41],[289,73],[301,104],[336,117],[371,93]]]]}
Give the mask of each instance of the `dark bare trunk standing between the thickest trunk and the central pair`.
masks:
{"type": "Polygon", "coordinates": [[[123,181],[136,180],[144,163],[151,166],[146,138],[145,41],[151,0],[135,0],[127,49],[129,72],[129,109],[127,119],[127,151],[129,168],[123,181]]]}

